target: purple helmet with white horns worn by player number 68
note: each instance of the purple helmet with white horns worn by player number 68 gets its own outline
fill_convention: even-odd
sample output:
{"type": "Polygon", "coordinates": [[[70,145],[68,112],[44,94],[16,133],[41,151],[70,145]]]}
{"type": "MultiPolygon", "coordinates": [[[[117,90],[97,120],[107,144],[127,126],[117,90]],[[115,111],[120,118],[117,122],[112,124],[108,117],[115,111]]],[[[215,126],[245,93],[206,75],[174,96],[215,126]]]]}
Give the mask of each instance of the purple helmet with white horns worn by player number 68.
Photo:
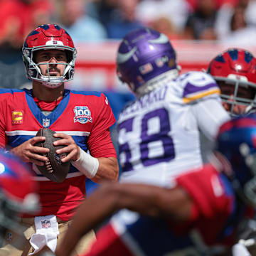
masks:
{"type": "Polygon", "coordinates": [[[153,78],[168,72],[169,78],[175,79],[178,71],[176,52],[163,33],[139,28],[128,33],[119,45],[117,75],[136,95],[149,91],[153,78]]]}

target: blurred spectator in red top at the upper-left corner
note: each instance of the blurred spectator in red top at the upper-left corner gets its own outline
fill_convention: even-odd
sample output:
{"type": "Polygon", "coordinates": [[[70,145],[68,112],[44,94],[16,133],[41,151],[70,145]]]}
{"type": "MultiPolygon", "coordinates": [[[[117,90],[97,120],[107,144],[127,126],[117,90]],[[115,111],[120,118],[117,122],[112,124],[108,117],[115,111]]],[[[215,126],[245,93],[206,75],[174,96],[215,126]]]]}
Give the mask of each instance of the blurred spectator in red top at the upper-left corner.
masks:
{"type": "Polygon", "coordinates": [[[20,87],[27,82],[23,72],[21,47],[32,28],[48,23],[50,0],[0,0],[0,80],[1,87],[20,87]]]}

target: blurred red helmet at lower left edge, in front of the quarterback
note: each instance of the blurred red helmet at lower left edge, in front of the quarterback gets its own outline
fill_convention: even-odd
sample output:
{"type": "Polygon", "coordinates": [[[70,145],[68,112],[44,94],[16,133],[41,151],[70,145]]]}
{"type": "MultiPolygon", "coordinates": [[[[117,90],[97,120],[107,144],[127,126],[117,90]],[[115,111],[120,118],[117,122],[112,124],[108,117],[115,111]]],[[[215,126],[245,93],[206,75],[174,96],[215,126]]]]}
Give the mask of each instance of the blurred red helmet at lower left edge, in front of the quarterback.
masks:
{"type": "Polygon", "coordinates": [[[37,183],[27,166],[13,154],[0,151],[0,238],[7,229],[19,234],[21,213],[39,210],[36,191],[37,183]]]}

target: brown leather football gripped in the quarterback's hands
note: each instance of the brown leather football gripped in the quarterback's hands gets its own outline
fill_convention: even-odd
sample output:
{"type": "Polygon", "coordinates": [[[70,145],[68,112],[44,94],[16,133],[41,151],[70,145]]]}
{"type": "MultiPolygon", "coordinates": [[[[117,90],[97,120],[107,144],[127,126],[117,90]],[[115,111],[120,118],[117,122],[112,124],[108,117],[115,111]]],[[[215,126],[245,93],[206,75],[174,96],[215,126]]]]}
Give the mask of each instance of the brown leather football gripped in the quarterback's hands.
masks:
{"type": "Polygon", "coordinates": [[[37,142],[35,146],[41,146],[44,148],[50,149],[49,153],[46,154],[48,161],[43,166],[37,166],[38,170],[49,178],[50,181],[62,182],[65,180],[65,177],[68,175],[68,170],[70,169],[70,161],[63,163],[61,159],[66,156],[66,154],[57,154],[56,150],[61,149],[64,146],[54,146],[53,142],[57,141],[60,138],[53,137],[55,134],[54,131],[48,128],[41,128],[38,130],[36,136],[46,137],[46,140],[43,142],[37,142]]]}

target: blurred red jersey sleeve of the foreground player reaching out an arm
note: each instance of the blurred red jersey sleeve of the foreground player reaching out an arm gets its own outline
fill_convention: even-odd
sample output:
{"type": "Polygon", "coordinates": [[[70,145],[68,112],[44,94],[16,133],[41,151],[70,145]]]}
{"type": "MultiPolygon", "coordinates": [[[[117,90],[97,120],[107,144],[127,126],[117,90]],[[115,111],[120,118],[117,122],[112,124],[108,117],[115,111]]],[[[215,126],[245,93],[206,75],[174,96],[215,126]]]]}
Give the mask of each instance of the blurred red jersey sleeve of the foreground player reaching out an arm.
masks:
{"type": "Polygon", "coordinates": [[[210,164],[178,177],[177,182],[186,189],[193,201],[186,227],[198,230],[206,244],[214,244],[234,210],[232,188],[210,164]]]}

